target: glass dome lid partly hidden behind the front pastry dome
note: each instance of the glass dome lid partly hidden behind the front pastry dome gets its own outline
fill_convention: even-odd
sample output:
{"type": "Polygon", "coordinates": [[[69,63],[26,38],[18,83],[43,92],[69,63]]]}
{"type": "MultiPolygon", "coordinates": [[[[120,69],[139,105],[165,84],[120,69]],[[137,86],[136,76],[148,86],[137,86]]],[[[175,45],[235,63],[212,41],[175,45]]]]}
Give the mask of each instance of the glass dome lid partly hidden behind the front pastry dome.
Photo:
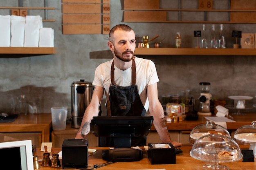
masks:
{"type": "Polygon", "coordinates": [[[193,128],[189,134],[189,142],[194,144],[197,139],[206,135],[223,135],[231,137],[229,131],[223,126],[213,124],[212,121],[206,121],[206,124],[201,124],[193,128]]]}

